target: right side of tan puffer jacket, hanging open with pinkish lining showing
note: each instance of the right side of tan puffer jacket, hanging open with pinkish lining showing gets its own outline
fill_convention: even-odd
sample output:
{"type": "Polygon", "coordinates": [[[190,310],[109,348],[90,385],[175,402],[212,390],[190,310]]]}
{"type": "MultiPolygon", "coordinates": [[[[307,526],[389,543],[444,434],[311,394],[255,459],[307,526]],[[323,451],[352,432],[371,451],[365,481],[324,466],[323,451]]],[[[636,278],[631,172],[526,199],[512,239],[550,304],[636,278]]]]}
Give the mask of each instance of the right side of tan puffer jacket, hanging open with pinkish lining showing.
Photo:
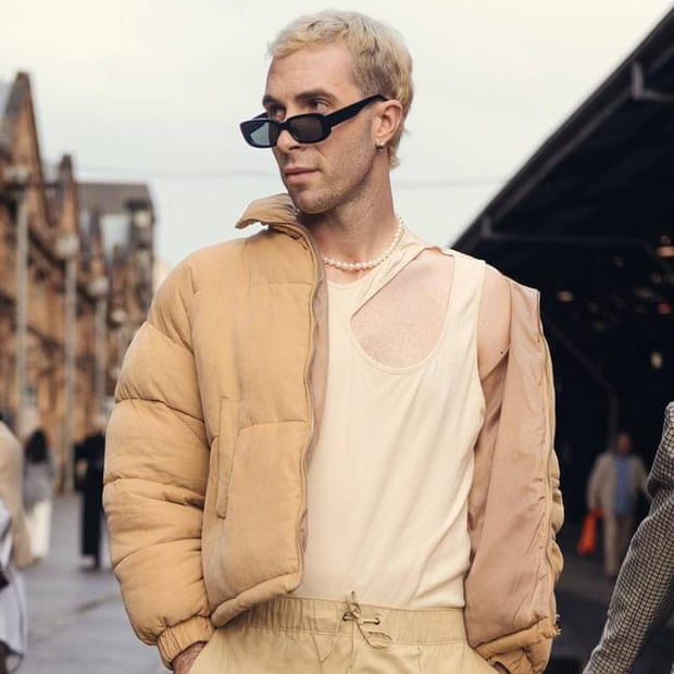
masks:
{"type": "Polygon", "coordinates": [[[511,284],[510,347],[483,377],[486,412],[469,498],[469,642],[511,674],[545,671],[559,634],[563,522],[552,366],[538,294],[511,284]]]}

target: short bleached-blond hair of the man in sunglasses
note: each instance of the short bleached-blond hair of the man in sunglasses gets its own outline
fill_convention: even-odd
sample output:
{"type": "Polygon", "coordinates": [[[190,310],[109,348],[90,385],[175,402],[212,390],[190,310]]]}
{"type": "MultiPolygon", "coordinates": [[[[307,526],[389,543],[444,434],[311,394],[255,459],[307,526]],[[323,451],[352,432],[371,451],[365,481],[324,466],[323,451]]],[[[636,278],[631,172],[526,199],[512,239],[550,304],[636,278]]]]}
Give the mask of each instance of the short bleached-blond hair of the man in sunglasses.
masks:
{"type": "Polygon", "coordinates": [[[388,164],[399,164],[398,145],[404,132],[414,88],[412,58],[402,36],[390,26],[359,14],[325,10],[300,16],[288,24],[272,41],[272,58],[286,57],[312,45],[344,45],[353,59],[353,80],[363,96],[382,93],[402,104],[402,124],[387,145],[388,164]]]}

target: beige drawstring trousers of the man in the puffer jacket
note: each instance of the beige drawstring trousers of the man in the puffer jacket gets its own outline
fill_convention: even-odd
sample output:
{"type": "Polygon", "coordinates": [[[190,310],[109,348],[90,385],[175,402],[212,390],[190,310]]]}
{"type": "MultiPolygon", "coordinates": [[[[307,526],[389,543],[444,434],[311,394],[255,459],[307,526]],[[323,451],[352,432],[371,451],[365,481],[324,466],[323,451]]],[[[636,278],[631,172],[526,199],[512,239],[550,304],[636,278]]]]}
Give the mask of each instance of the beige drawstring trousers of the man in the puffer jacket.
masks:
{"type": "Polygon", "coordinates": [[[461,609],[408,611],[296,597],[215,632],[189,674],[494,674],[461,609]]]}

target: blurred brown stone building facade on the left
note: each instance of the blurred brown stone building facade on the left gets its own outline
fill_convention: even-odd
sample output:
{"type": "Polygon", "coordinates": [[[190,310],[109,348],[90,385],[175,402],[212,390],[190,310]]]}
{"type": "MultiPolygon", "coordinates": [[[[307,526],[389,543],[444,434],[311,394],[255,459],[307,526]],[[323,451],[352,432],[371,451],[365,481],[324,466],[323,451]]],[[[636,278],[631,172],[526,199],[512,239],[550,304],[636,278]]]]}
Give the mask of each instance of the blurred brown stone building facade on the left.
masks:
{"type": "Polygon", "coordinates": [[[28,75],[0,82],[0,410],[24,438],[46,430],[67,490],[149,308],[154,215],[145,185],[47,168],[37,128],[28,75]]]}

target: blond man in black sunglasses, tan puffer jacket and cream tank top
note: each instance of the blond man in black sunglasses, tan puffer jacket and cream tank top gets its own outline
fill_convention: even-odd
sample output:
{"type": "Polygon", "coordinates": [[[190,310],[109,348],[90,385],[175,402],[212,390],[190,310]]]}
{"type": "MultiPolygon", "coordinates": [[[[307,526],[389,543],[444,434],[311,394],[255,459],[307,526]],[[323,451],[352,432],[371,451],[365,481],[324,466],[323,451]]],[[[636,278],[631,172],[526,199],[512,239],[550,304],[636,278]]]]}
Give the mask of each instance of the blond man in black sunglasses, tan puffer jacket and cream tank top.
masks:
{"type": "Polygon", "coordinates": [[[537,295],[396,216],[397,33],[325,12],[271,55],[241,130],[288,195],[171,275],[117,386],[132,622],[178,674],[542,672],[562,507],[537,295]]]}

